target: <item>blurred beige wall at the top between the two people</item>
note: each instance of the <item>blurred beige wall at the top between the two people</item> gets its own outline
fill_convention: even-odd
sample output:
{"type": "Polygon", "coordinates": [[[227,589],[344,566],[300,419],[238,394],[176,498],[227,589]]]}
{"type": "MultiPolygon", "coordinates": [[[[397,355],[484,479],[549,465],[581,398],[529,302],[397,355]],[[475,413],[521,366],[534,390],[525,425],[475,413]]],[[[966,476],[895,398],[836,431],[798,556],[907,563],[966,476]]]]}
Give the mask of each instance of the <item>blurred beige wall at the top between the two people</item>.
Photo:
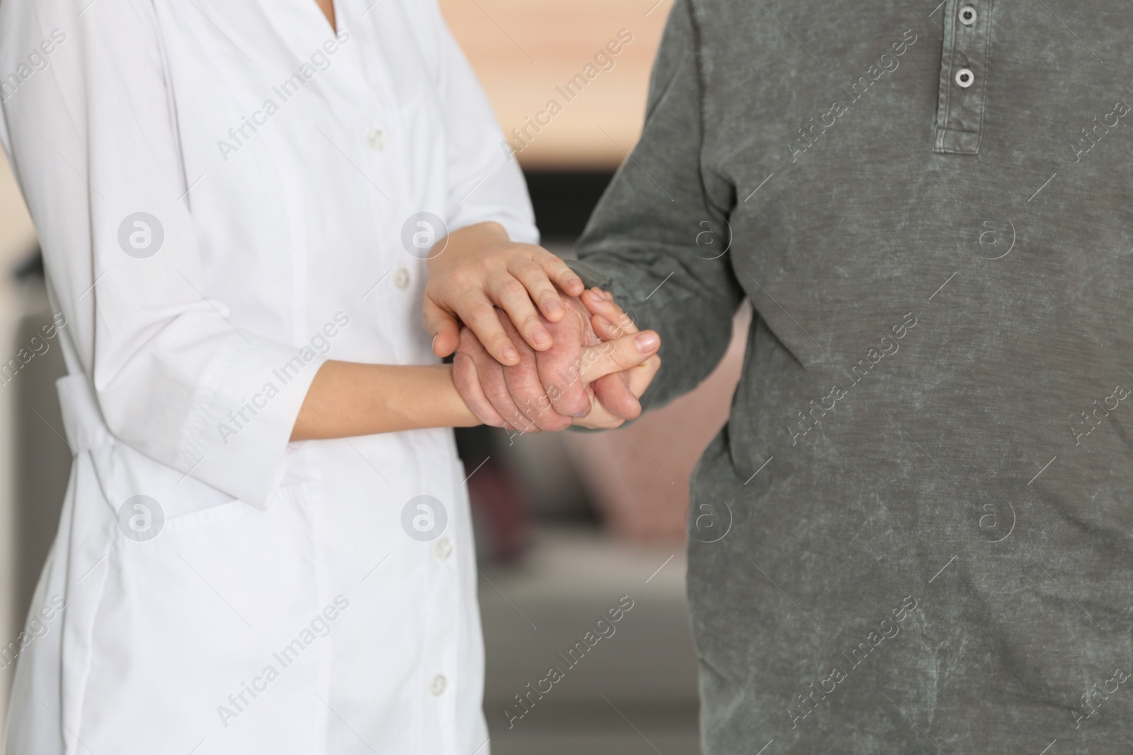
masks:
{"type": "MultiPolygon", "coordinates": [[[[522,128],[555,101],[520,153],[527,168],[615,168],[637,143],[653,58],[672,0],[441,0],[504,134],[522,128]],[[656,5],[655,5],[656,3],[656,5]],[[633,41],[582,93],[568,101],[555,87],[586,71],[617,33],[633,41]]],[[[596,69],[590,69],[593,74],[596,69]]],[[[523,137],[526,140],[526,137],[523,137]]],[[[516,143],[516,146],[521,146],[516,143]]]]}

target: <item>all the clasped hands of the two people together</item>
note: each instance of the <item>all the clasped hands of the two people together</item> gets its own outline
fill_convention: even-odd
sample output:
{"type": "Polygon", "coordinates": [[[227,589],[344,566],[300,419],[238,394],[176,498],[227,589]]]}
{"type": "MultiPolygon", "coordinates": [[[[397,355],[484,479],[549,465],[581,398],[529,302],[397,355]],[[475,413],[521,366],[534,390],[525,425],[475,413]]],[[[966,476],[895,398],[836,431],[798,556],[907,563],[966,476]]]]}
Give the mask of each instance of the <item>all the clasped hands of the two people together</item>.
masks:
{"type": "Polygon", "coordinates": [[[513,432],[616,428],[641,413],[661,337],[638,331],[561,259],[495,223],[461,229],[428,261],[425,327],[485,424],[513,432]]]}

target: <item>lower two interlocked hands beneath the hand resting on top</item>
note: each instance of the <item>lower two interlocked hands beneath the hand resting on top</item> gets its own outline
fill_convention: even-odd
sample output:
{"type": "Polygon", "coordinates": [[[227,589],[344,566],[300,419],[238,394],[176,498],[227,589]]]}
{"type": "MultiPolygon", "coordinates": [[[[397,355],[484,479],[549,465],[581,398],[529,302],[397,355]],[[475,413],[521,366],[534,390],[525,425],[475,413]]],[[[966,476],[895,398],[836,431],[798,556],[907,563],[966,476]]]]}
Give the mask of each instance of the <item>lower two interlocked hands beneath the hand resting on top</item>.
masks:
{"type": "MultiPolygon", "coordinates": [[[[550,326],[555,331],[554,348],[536,353],[521,345],[520,361],[513,367],[503,367],[493,359],[471,331],[461,332],[453,379],[482,422],[533,432],[562,430],[572,420],[583,427],[612,428],[641,413],[637,398],[661,367],[655,355],[656,334],[640,334],[646,337],[641,338],[645,351],[639,354],[653,355],[637,364],[610,351],[611,344],[625,343],[628,336],[637,341],[639,334],[610,294],[593,289],[581,298],[566,299],[565,304],[568,316],[550,326]],[[624,367],[594,380],[595,371],[588,362],[604,352],[621,359],[624,367]],[[582,403],[563,414],[560,404],[568,394],[577,395],[582,403]]],[[[501,327],[514,334],[506,317],[499,319],[501,327]]]]}

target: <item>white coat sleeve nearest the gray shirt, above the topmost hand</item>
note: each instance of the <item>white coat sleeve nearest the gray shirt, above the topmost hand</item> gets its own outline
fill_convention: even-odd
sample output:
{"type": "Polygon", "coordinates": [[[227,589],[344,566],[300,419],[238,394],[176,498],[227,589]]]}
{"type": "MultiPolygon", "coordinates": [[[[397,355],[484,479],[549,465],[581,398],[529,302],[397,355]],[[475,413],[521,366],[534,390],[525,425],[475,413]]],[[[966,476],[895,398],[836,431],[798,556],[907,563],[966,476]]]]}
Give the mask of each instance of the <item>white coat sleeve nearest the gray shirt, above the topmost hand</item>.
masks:
{"type": "Polygon", "coordinates": [[[438,89],[448,140],[449,230],[494,221],[508,230],[512,241],[538,243],[519,162],[436,0],[425,5],[438,50],[438,89]]]}

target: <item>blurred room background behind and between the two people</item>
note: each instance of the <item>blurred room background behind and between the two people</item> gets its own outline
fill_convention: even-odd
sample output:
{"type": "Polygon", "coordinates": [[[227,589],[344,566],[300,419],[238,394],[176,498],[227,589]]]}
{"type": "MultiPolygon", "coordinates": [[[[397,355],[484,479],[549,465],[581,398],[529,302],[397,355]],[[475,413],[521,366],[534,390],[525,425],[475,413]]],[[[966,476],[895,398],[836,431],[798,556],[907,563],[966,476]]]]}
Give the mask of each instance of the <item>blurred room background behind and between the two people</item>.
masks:
{"type": "MultiPolygon", "coordinates": [[[[523,168],[545,246],[571,256],[640,134],[672,0],[440,1],[523,168]]],[[[2,361],[50,319],[34,228],[0,153],[2,361]]],[[[726,420],[746,328],[741,312],[727,357],[697,392],[622,430],[458,431],[495,755],[699,752],[684,595],[688,481],[726,420]],[[629,601],[615,633],[571,666],[569,651],[594,623],[629,601]],[[546,689],[552,666],[563,678],[533,693],[546,689]]],[[[0,637],[18,634],[58,525],[71,461],[57,434],[62,370],[52,344],[0,380],[0,637]]],[[[0,717],[12,671],[0,669],[0,717]]]]}

